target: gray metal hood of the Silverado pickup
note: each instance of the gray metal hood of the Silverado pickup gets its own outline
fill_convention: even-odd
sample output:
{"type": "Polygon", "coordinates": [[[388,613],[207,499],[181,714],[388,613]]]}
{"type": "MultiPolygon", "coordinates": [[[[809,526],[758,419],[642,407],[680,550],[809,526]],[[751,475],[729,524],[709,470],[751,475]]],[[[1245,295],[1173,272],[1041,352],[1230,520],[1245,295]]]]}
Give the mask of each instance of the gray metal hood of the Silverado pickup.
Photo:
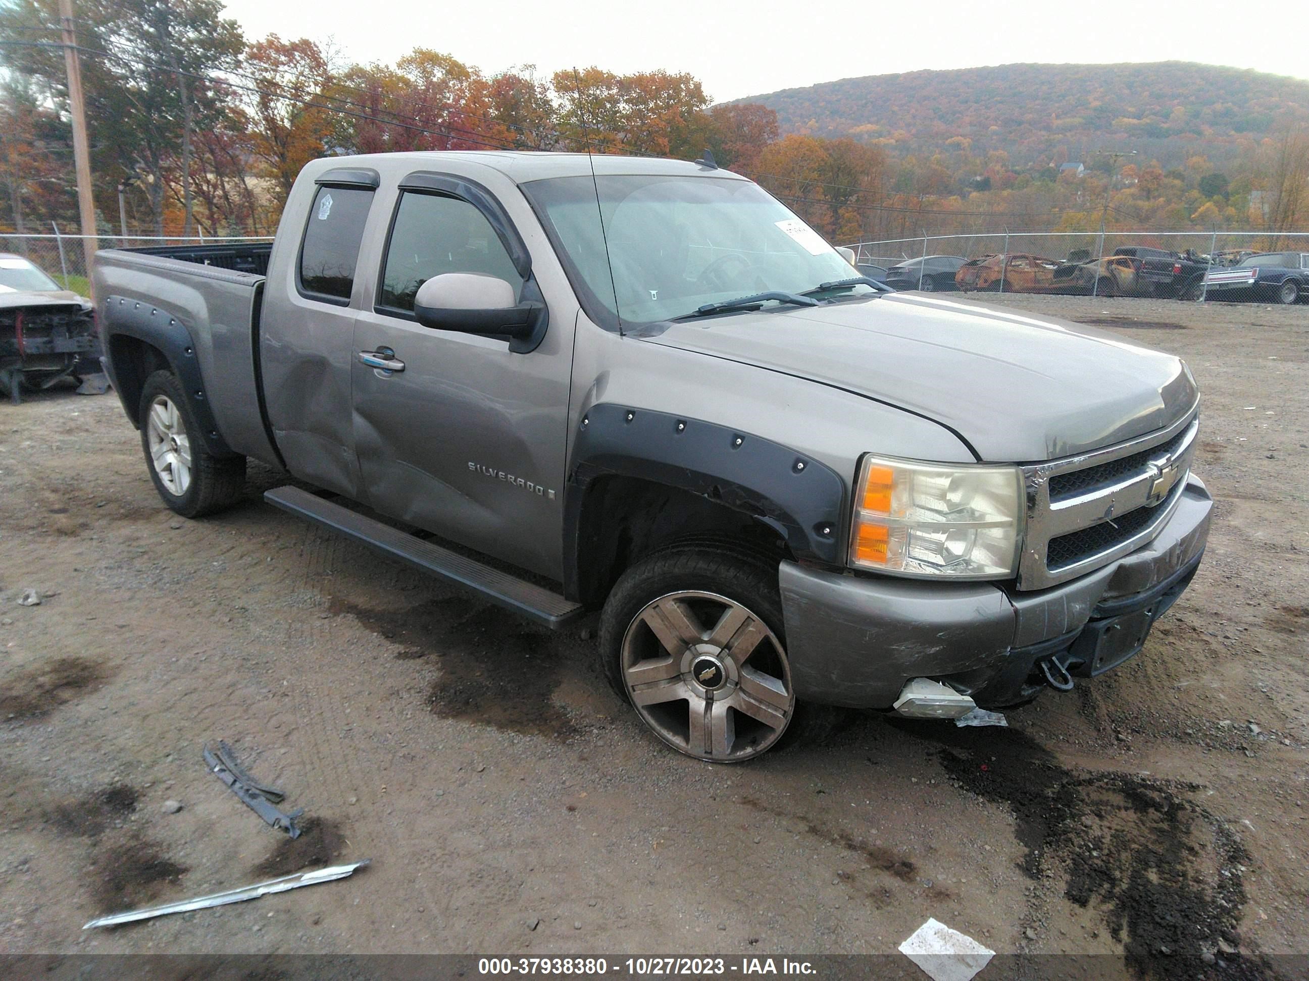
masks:
{"type": "MultiPolygon", "coordinates": [[[[1177,357],[1075,323],[885,294],[666,326],[649,343],[755,365],[932,419],[990,462],[1069,456],[1195,404],[1177,357]]],[[[868,450],[876,449],[869,434],[868,450]]]]}

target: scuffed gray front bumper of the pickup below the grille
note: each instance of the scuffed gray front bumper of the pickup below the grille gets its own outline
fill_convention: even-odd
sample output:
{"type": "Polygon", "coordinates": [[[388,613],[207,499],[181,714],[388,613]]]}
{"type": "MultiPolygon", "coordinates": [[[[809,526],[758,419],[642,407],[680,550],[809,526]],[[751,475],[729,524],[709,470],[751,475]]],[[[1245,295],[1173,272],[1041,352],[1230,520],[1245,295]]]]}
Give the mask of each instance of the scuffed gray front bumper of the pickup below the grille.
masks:
{"type": "Polygon", "coordinates": [[[1075,676],[1117,667],[1199,568],[1213,498],[1189,477],[1173,517],[1148,545],[1079,579],[1021,593],[992,583],[939,583],[780,569],[796,696],[890,708],[915,678],[944,681],[982,708],[1029,701],[1055,658],[1075,676]]]}

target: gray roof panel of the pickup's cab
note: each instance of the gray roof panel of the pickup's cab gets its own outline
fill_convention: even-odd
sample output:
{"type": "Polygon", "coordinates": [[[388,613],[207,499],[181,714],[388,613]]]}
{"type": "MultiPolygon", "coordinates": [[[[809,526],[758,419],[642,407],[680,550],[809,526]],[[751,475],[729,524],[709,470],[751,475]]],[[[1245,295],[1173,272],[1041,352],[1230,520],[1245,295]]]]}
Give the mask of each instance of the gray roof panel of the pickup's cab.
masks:
{"type": "Polygon", "coordinates": [[[352,157],[321,157],[305,165],[305,170],[317,173],[332,167],[374,167],[381,173],[410,174],[415,170],[439,169],[439,161],[466,161],[499,170],[511,181],[524,184],[530,181],[543,181],[552,177],[590,177],[592,165],[596,174],[685,174],[713,175],[745,181],[746,178],[729,170],[709,170],[708,167],[685,160],[662,157],[630,157],[609,153],[554,153],[545,150],[414,150],[406,153],[364,153],[352,157]]]}

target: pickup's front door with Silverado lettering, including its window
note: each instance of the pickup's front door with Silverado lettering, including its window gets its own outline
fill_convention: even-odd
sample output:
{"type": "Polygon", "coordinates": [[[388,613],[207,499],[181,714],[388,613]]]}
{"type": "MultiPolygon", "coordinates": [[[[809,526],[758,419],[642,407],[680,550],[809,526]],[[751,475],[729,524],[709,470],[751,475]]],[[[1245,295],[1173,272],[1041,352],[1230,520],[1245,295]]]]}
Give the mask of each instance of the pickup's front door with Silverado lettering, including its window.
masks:
{"type": "Polygon", "coordinates": [[[445,272],[497,276],[520,298],[535,289],[528,250],[490,192],[414,175],[401,184],[376,301],[355,320],[355,445],[367,500],[558,579],[576,311],[551,317],[541,347],[525,354],[505,337],[432,330],[414,318],[414,296],[445,272]]]}

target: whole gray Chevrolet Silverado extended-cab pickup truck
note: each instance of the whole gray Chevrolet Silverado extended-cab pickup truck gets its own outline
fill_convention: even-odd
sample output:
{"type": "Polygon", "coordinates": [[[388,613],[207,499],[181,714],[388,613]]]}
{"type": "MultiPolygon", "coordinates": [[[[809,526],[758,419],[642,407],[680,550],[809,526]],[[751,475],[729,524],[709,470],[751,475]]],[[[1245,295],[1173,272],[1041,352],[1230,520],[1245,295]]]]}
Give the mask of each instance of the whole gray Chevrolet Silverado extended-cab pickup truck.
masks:
{"type": "Polygon", "coordinates": [[[1195,574],[1187,366],[855,275],[711,164],[308,165],[271,246],[99,252],[165,504],[270,504],[558,627],[683,753],[961,717],[1136,654],[1195,574]],[[309,488],[309,489],[306,489],[309,488]]]}

